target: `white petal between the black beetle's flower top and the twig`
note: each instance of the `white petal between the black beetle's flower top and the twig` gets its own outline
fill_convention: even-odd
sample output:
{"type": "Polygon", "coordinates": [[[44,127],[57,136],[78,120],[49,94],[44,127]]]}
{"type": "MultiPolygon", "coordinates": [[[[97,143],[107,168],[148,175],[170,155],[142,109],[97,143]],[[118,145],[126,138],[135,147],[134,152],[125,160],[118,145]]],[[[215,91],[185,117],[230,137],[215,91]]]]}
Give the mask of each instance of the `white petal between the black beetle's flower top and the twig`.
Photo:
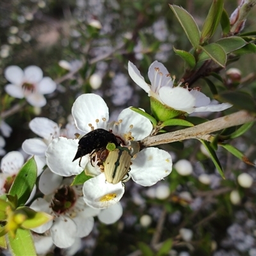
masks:
{"type": "Polygon", "coordinates": [[[132,111],[130,108],[126,108],[120,113],[118,120],[120,119],[122,120],[122,124],[120,124],[118,132],[120,132],[120,134],[126,134],[131,131],[136,141],[143,140],[152,132],[153,126],[150,120],[132,111]]]}

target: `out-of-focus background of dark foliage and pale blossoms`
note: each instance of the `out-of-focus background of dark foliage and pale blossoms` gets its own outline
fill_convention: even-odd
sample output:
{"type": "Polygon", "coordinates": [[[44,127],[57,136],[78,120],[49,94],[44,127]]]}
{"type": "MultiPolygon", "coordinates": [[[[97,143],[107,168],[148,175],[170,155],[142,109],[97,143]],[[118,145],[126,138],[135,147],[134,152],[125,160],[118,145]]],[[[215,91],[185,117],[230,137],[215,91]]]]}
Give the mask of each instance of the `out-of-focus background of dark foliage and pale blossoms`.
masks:
{"type": "MultiPolygon", "coordinates": [[[[44,76],[58,84],[57,90],[46,96],[44,108],[26,105],[6,118],[5,122],[13,129],[12,135],[6,138],[6,152],[19,150],[24,140],[35,137],[28,127],[35,116],[67,124],[72,104],[82,93],[102,96],[109,106],[111,120],[129,106],[150,113],[147,93],[128,75],[128,61],[140,69],[146,81],[148,67],[154,60],[164,63],[180,81],[184,62],[175,55],[173,47],[189,51],[191,45],[168,4],[188,10],[202,28],[211,3],[1,0],[1,111],[19,102],[3,89],[8,83],[4,68],[10,65],[22,69],[36,65],[42,68],[44,76]]],[[[228,15],[237,4],[237,1],[225,2],[228,15]]],[[[243,32],[255,30],[254,8],[243,32]]],[[[221,29],[216,33],[216,38],[220,37],[221,29]]],[[[238,68],[241,79],[246,77],[246,83],[239,86],[255,95],[255,61],[253,54],[243,56],[222,70],[221,76],[228,79],[228,68],[238,68]]],[[[220,83],[217,79],[213,82],[217,86],[220,83]]],[[[193,86],[201,86],[202,92],[212,97],[205,81],[198,80],[193,86]]],[[[201,116],[213,119],[221,115],[206,114],[201,116]]],[[[255,161],[255,129],[232,141],[232,145],[255,161]]],[[[84,237],[83,247],[76,255],[256,256],[255,166],[242,163],[220,148],[217,154],[225,170],[226,180],[223,180],[199,141],[159,147],[173,157],[175,168],[171,175],[150,188],[131,180],[127,182],[121,201],[122,218],[113,225],[96,221],[93,232],[84,237]],[[244,172],[249,175],[245,184],[237,180],[244,172]],[[172,239],[172,250],[157,254],[168,239],[172,239]]],[[[65,255],[65,252],[56,248],[49,255],[65,255]]]]}

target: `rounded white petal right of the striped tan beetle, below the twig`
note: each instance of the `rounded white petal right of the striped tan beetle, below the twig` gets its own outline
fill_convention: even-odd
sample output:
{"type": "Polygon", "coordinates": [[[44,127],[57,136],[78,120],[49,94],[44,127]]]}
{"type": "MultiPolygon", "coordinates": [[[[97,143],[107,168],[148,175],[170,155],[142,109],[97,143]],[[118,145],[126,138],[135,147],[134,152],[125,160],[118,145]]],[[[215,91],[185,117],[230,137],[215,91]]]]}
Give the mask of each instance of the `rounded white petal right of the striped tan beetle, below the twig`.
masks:
{"type": "Polygon", "coordinates": [[[159,148],[145,148],[132,159],[129,174],[141,186],[152,186],[172,172],[172,157],[159,148]]]}

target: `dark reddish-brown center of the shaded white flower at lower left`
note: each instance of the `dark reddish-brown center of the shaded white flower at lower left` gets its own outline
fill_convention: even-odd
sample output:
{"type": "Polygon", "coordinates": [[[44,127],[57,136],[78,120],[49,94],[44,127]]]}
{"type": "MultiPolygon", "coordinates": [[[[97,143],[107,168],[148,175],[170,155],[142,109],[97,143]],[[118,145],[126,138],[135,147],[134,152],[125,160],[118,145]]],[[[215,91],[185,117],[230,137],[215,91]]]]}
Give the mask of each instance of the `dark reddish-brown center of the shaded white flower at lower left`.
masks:
{"type": "Polygon", "coordinates": [[[68,211],[76,203],[76,193],[70,186],[63,186],[57,190],[52,198],[52,210],[58,214],[68,211]]]}

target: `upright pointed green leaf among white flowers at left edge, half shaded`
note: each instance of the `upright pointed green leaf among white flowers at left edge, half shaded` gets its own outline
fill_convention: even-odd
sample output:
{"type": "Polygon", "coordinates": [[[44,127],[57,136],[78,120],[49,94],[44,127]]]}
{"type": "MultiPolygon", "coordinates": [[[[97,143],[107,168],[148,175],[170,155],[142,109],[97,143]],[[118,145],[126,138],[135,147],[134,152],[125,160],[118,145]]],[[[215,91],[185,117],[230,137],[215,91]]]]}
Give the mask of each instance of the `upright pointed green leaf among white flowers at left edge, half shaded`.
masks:
{"type": "Polygon", "coordinates": [[[34,157],[31,157],[20,169],[9,191],[10,195],[17,195],[18,206],[24,205],[28,201],[31,191],[35,186],[36,177],[36,161],[34,157]]]}

